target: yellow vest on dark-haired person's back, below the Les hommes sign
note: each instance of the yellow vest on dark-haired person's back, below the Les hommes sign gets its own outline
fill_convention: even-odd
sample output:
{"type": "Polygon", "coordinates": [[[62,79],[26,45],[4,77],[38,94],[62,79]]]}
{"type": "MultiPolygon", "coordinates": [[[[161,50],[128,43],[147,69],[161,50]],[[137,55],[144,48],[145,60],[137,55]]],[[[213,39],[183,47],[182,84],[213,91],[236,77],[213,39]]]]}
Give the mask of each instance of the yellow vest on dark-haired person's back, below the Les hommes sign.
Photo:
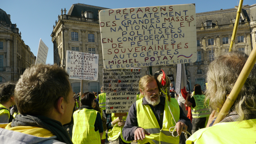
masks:
{"type": "Polygon", "coordinates": [[[97,113],[97,111],[89,109],[74,112],[72,130],[72,142],[74,144],[101,144],[101,139],[94,130],[97,113]]]}

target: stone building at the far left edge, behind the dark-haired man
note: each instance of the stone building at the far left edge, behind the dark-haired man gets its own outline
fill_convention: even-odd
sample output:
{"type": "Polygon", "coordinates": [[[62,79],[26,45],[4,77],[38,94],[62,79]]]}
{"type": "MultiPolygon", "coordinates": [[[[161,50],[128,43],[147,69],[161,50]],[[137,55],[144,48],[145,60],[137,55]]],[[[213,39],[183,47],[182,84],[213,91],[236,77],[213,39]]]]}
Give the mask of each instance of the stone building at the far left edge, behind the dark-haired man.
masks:
{"type": "Polygon", "coordinates": [[[10,17],[0,9],[0,83],[18,81],[25,69],[35,63],[34,54],[10,17]]]}

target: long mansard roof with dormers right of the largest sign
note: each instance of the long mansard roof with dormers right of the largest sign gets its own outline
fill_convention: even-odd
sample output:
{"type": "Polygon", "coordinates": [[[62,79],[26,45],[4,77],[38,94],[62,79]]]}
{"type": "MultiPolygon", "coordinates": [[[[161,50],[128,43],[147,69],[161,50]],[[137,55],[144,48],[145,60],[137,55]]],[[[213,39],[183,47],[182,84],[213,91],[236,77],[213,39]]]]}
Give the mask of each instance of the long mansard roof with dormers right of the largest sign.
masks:
{"type": "MultiPolygon", "coordinates": [[[[253,4],[251,6],[243,5],[242,12],[248,21],[255,20],[256,19],[256,4],[253,4]],[[253,19],[251,19],[251,16],[253,16],[253,19]]],[[[218,21],[218,25],[230,24],[230,19],[232,19],[232,20],[235,19],[236,15],[237,15],[236,8],[197,13],[196,14],[196,27],[202,27],[201,23],[202,22],[205,23],[207,20],[212,20],[213,25],[215,25],[216,20],[218,21]]],[[[244,20],[242,19],[242,22],[244,22],[244,21],[245,21],[245,19],[244,20]]]]}

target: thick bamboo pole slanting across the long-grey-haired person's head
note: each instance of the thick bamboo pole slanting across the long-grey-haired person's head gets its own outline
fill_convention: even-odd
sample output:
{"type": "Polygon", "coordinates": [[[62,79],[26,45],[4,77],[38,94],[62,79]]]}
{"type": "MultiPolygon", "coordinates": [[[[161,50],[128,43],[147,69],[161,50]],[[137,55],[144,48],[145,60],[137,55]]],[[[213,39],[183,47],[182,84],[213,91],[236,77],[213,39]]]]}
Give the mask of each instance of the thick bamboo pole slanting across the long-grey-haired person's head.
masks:
{"type": "Polygon", "coordinates": [[[248,57],[248,60],[245,62],[244,68],[242,69],[240,75],[238,76],[238,79],[236,81],[236,84],[234,85],[232,91],[230,92],[229,96],[227,96],[227,99],[224,103],[224,105],[221,108],[221,111],[218,114],[218,117],[216,118],[213,125],[217,124],[223,118],[226,117],[228,114],[231,106],[236,101],[238,94],[240,93],[242,86],[244,86],[244,83],[249,75],[249,73],[252,71],[252,68],[256,62],[256,44],[254,45],[254,49],[252,50],[252,53],[248,57]]]}

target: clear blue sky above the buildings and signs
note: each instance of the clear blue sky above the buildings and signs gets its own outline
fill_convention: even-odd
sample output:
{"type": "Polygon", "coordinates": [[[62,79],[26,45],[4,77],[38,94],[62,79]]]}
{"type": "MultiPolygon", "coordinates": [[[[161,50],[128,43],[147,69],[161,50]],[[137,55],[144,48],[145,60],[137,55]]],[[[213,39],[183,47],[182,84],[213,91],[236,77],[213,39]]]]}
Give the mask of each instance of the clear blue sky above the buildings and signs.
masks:
{"type": "MultiPolygon", "coordinates": [[[[68,11],[72,4],[83,3],[105,8],[130,8],[157,5],[196,4],[196,13],[234,8],[237,0],[0,0],[0,8],[11,15],[22,33],[22,39],[37,55],[39,40],[48,46],[46,64],[53,64],[53,43],[50,34],[55,20],[61,15],[61,8],[68,11]]],[[[255,0],[244,0],[243,5],[256,4],[255,0]]]]}

